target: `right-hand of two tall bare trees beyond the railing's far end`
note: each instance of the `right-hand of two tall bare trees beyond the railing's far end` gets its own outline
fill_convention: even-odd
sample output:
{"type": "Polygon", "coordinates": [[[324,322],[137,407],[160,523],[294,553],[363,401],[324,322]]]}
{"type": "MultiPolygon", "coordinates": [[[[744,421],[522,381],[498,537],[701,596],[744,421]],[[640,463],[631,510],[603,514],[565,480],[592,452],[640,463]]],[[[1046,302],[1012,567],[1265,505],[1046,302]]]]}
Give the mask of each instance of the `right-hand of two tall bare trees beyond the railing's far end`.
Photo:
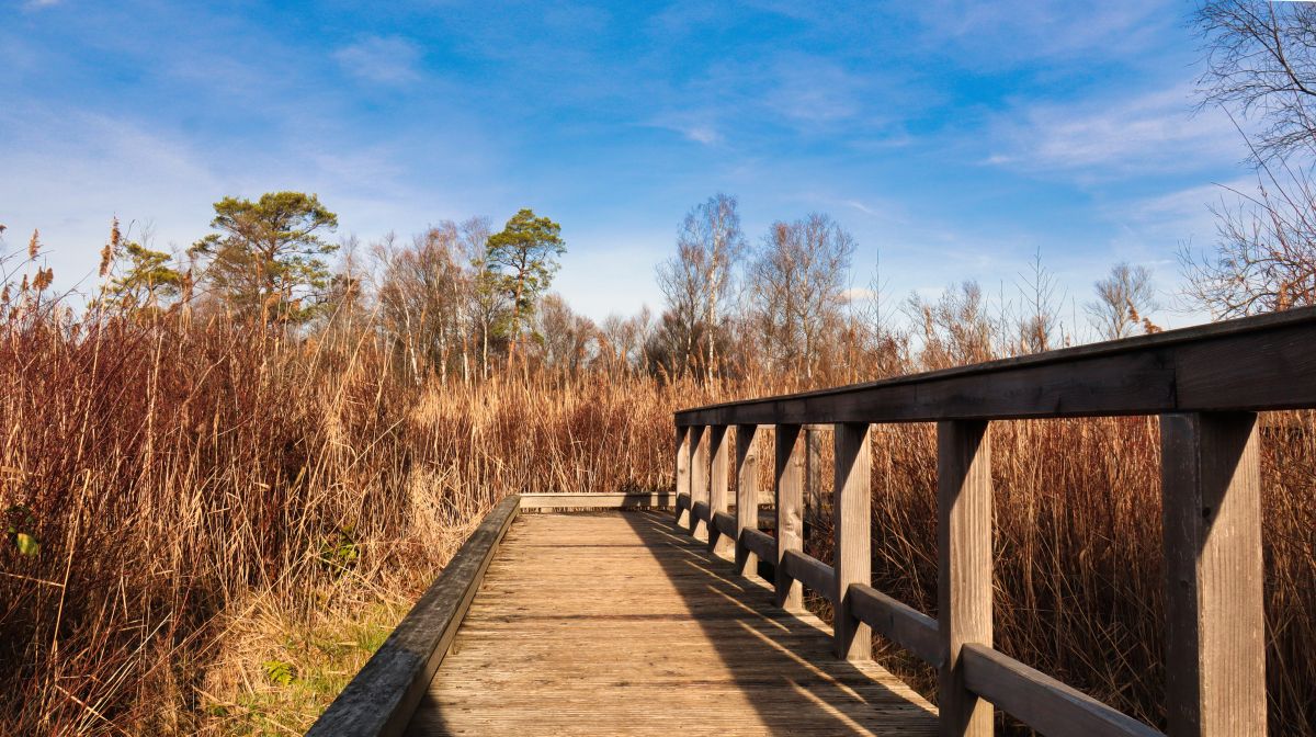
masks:
{"type": "Polygon", "coordinates": [[[769,359],[813,378],[845,326],[854,238],[825,215],[774,222],[750,270],[751,318],[769,359]]]}

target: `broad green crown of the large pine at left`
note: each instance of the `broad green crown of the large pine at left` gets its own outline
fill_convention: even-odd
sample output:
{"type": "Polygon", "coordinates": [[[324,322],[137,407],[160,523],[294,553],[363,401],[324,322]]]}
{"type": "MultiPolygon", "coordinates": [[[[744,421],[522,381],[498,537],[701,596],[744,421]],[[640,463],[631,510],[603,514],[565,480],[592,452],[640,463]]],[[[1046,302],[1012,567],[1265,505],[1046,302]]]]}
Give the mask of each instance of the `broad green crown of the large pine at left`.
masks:
{"type": "Polygon", "coordinates": [[[204,262],[203,280],[213,296],[263,322],[303,322],[316,313],[330,282],[325,257],[338,249],[320,237],[338,228],[338,216],[316,195],[224,197],[215,203],[211,226],[218,233],[190,253],[204,262]]]}

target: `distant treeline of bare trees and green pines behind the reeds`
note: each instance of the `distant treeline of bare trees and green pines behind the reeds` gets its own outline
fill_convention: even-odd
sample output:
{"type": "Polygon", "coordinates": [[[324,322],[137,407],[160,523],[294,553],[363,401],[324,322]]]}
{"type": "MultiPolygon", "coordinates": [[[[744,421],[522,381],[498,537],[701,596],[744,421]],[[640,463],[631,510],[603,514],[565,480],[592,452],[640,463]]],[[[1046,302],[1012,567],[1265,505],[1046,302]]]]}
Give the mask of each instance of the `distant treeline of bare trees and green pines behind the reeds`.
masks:
{"type": "MultiPolygon", "coordinates": [[[[858,243],[830,216],[779,220],[750,238],[737,200],[721,193],[691,208],[674,254],[658,265],[661,312],[603,321],[551,291],[567,245],[557,222],[530,209],[500,230],[471,217],[362,245],[329,240],[338,217],[316,195],[271,192],[217,201],[211,228],[190,249],[167,253],[150,247],[149,233],[121,233],[116,220],[87,316],[226,316],[304,340],[368,340],[416,383],[533,371],[820,386],[1157,329],[1152,275],[1141,266],[1116,265],[1095,283],[1086,326],[1061,318],[1063,297],[1040,257],[995,300],[969,280],[937,299],[892,301],[876,272],[853,286],[858,243]]],[[[34,275],[4,295],[11,320],[24,313],[20,304],[58,308],[39,259],[34,233],[26,262],[34,275]]]]}

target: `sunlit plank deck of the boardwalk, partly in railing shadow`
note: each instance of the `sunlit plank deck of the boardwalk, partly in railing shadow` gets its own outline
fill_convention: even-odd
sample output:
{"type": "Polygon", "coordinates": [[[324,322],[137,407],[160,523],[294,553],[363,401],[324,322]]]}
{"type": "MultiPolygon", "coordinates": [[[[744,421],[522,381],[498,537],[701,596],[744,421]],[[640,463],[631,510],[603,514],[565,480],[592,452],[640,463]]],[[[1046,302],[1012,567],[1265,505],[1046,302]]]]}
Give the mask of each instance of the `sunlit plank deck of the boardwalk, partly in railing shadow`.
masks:
{"type": "Polygon", "coordinates": [[[936,733],[926,700],[670,520],[520,517],[408,734],[936,733]]]}

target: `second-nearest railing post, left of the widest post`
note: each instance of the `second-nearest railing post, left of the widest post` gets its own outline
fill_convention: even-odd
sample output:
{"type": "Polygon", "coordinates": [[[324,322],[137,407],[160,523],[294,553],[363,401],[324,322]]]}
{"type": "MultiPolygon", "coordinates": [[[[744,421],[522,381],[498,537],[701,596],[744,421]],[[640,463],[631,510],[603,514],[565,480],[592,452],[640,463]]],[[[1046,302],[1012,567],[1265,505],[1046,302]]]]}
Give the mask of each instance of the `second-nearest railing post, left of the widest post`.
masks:
{"type": "Polygon", "coordinates": [[[992,707],[965,686],[959,650],[991,646],[991,444],[986,421],[937,422],[937,628],[942,737],[991,737],[992,707]]]}

